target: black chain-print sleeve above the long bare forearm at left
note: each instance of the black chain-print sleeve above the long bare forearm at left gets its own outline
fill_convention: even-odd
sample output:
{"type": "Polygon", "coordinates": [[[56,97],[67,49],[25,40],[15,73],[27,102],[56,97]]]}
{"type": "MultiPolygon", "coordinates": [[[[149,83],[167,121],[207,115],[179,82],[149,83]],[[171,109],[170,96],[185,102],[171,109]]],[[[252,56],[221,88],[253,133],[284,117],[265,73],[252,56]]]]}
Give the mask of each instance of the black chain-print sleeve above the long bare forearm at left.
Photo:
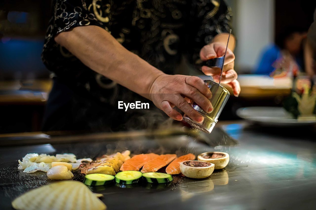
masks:
{"type": "MultiPolygon", "coordinates": [[[[46,67],[56,70],[56,62],[60,52],[55,36],[77,26],[100,26],[108,30],[110,24],[110,4],[107,8],[100,7],[92,0],[53,0],[52,17],[46,32],[45,43],[43,46],[42,60],[46,67]],[[55,58],[53,58],[55,57],[55,58]]],[[[68,53],[68,52],[67,52],[68,53]]],[[[64,55],[66,58],[68,55],[64,55]]]]}

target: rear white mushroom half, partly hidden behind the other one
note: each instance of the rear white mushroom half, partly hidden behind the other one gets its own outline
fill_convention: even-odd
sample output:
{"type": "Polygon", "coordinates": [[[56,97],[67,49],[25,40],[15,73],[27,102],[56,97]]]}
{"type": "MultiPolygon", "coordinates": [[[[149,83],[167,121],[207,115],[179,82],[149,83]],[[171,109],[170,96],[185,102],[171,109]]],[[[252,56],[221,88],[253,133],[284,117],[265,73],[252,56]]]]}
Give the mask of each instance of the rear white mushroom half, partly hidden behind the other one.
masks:
{"type": "Polygon", "coordinates": [[[215,169],[222,169],[228,165],[229,155],[226,152],[204,152],[197,155],[197,160],[213,163],[215,169]]]}

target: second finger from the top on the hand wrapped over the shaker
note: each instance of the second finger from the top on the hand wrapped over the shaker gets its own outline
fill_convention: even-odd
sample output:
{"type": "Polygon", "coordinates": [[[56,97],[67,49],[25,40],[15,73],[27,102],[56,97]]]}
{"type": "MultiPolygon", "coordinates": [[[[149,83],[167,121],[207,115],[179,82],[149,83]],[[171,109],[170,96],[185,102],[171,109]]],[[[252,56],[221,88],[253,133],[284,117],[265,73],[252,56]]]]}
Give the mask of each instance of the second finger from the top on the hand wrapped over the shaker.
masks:
{"type": "Polygon", "coordinates": [[[213,106],[208,98],[206,98],[200,91],[196,88],[188,85],[182,93],[184,96],[191,98],[195,103],[197,103],[205,112],[211,113],[213,111],[213,106]]]}

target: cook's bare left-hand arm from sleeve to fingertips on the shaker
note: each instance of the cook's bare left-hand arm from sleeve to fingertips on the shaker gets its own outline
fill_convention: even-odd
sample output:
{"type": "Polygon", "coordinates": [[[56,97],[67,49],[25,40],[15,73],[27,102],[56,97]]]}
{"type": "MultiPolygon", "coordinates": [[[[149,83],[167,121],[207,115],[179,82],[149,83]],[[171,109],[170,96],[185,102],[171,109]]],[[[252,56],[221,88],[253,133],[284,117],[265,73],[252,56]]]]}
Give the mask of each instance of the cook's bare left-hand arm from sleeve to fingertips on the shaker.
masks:
{"type": "Polygon", "coordinates": [[[152,100],[174,120],[182,116],[178,107],[197,122],[203,117],[184,97],[212,111],[211,93],[203,80],[185,75],[167,75],[137,55],[126,50],[112,35],[99,26],[80,26],[61,32],[55,41],[75,55],[83,64],[120,85],[152,100]]]}

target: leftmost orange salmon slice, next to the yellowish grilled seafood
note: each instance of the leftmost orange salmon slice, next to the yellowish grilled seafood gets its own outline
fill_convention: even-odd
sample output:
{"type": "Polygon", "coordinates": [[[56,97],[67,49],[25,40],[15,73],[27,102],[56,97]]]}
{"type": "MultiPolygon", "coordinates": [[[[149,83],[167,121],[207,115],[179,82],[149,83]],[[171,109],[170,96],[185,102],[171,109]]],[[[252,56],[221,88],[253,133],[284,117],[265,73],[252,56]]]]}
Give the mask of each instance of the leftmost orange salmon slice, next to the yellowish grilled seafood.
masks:
{"type": "Polygon", "coordinates": [[[152,160],[159,155],[155,153],[149,153],[149,154],[140,154],[135,155],[131,159],[126,160],[123,165],[121,166],[121,171],[139,171],[145,163],[147,163],[149,160],[152,160]]]}

